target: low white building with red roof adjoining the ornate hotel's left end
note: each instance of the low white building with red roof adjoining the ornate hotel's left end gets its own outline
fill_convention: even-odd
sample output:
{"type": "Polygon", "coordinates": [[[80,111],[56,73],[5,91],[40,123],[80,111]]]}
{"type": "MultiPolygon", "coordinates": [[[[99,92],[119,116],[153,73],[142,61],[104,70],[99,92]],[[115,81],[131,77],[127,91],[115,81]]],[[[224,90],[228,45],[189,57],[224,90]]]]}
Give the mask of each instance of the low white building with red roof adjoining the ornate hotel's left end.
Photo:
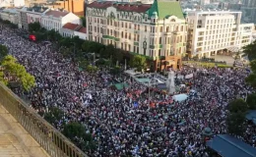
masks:
{"type": "Polygon", "coordinates": [[[60,29],[60,34],[65,37],[79,36],[79,38],[87,39],[87,28],[81,25],[67,23],[60,29]]]}

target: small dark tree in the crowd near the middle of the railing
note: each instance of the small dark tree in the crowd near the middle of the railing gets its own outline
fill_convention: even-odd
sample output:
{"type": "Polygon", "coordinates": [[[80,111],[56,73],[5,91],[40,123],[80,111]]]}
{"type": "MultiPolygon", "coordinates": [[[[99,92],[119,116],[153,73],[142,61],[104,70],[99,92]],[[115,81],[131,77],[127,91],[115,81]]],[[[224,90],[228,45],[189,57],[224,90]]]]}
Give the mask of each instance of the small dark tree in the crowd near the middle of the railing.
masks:
{"type": "Polygon", "coordinates": [[[60,120],[63,119],[64,112],[57,107],[50,107],[43,118],[53,126],[57,126],[60,120]]]}

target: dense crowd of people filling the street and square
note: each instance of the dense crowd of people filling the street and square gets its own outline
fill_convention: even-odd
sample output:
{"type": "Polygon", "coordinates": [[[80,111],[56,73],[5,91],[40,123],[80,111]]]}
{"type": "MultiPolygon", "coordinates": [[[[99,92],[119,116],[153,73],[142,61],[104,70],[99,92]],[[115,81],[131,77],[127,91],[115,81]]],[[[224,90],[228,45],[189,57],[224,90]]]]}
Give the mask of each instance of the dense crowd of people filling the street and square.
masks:
{"type": "MultiPolygon", "coordinates": [[[[36,79],[30,92],[19,94],[26,94],[37,112],[45,113],[51,106],[62,109],[65,117],[55,126],[58,130],[71,121],[83,123],[97,142],[93,154],[97,157],[208,157],[202,131],[225,133],[227,103],[253,91],[244,83],[247,72],[242,69],[186,67],[175,73],[195,77],[176,79],[176,84],[190,84],[196,94],[180,102],[158,91],[149,98],[147,87],[125,74],[113,77],[105,69],[96,74],[81,71],[49,43],[30,42],[8,28],[0,38],[36,79]],[[129,87],[109,88],[118,80],[125,80],[129,87]]],[[[255,132],[249,126],[241,138],[256,146],[255,132]]]]}

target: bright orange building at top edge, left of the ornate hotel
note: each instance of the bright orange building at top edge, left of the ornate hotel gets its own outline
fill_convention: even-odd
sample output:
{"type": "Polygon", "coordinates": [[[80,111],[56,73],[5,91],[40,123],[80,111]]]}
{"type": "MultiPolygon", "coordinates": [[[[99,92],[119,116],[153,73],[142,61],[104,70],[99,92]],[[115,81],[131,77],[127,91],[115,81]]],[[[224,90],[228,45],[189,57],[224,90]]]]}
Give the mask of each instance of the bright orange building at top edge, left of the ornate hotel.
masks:
{"type": "Polygon", "coordinates": [[[85,0],[65,0],[65,1],[55,1],[48,5],[54,9],[64,9],[71,12],[79,17],[85,16],[85,0]]]}

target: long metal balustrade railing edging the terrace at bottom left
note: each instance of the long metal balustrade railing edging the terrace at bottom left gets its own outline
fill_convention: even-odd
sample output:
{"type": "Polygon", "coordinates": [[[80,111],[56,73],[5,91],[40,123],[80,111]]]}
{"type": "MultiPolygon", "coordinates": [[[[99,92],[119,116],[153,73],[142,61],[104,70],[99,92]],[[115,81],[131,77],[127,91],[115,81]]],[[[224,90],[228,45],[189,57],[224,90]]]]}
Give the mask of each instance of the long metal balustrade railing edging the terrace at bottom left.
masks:
{"type": "Polygon", "coordinates": [[[49,156],[88,157],[1,82],[0,104],[32,135],[49,156]]]}

